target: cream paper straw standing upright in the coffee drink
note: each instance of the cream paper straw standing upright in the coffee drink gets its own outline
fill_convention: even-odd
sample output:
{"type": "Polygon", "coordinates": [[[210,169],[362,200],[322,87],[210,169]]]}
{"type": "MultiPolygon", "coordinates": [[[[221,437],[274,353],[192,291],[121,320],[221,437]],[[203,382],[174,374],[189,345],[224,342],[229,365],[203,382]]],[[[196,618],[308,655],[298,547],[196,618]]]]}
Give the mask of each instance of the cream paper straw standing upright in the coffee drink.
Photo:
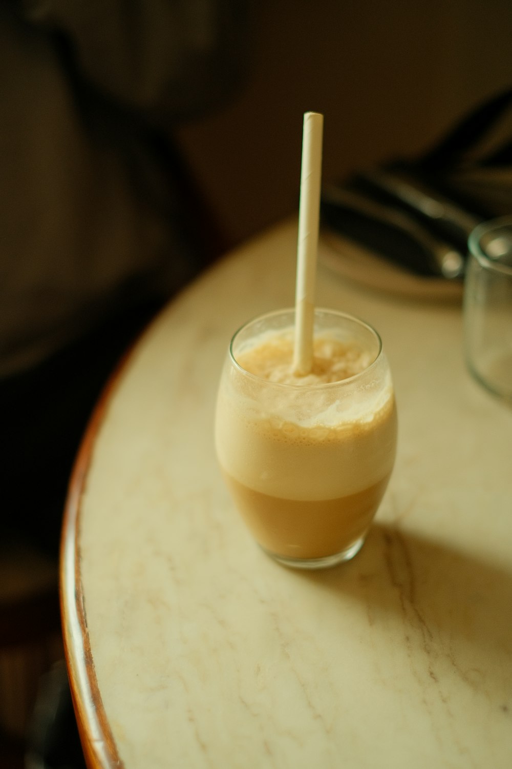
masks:
{"type": "Polygon", "coordinates": [[[320,115],[319,112],[306,112],[302,131],[295,346],[293,350],[293,371],[298,376],[309,374],[313,362],[316,254],[319,241],[320,182],[322,178],[322,129],[323,115],[320,115]]]}

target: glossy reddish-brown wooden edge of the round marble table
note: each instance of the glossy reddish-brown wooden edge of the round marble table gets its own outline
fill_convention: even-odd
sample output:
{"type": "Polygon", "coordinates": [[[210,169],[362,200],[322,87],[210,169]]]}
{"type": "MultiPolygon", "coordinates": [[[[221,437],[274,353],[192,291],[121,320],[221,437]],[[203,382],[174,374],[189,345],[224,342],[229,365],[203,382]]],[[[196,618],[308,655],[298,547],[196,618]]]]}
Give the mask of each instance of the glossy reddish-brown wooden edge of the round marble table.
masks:
{"type": "Polygon", "coordinates": [[[133,348],[134,345],[121,358],[92,411],[71,472],[62,524],[59,592],[64,657],[68,668],[74,714],[88,769],[111,769],[111,767],[122,769],[124,767],[107,721],[94,670],[82,594],[78,535],[81,500],[91,465],[94,442],[111,400],[111,394],[133,348]]]}

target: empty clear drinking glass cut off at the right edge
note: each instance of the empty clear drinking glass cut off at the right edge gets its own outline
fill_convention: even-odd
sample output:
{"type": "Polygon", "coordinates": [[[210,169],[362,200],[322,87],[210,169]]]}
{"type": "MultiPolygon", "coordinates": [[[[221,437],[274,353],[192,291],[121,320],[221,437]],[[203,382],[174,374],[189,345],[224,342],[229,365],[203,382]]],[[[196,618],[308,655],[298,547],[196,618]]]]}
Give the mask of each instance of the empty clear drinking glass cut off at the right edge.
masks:
{"type": "Polygon", "coordinates": [[[512,402],[512,217],[478,225],[468,240],[464,281],[467,367],[512,402]]]}

